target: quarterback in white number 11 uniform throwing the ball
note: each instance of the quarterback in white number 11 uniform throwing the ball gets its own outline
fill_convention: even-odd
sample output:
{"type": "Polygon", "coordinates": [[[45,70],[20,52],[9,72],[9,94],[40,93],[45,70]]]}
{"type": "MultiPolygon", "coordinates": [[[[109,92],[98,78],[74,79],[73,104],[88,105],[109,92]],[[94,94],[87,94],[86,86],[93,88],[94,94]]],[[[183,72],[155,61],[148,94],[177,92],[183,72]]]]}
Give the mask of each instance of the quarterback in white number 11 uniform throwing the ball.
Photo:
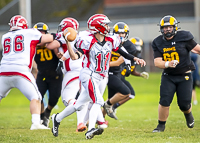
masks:
{"type": "Polygon", "coordinates": [[[128,59],[134,59],[141,66],[146,65],[143,59],[127,54],[119,48],[121,42],[119,37],[108,34],[109,23],[108,17],[103,14],[91,16],[87,22],[89,31],[82,31],[77,37],[76,46],[78,50],[76,52],[65,39],[72,60],[77,60],[82,55],[85,57],[79,77],[84,89],[81,90],[80,96],[74,104],[68,105],[61,113],[52,115],[52,132],[54,136],[58,136],[58,128],[62,119],[75,111],[81,110],[87,102],[91,102],[92,106],[89,112],[88,131],[85,134],[86,139],[92,139],[95,135],[103,133],[102,128],[95,128],[95,123],[98,116],[104,120],[101,112],[101,106],[104,105],[102,96],[108,81],[109,61],[112,50],[118,51],[128,59]]]}

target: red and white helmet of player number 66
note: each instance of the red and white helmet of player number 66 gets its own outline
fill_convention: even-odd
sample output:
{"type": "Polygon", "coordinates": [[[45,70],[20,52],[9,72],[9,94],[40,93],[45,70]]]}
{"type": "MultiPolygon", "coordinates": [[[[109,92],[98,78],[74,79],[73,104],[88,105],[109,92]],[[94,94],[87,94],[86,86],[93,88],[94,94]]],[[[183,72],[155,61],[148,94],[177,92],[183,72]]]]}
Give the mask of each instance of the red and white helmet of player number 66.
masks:
{"type": "Polygon", "coordinates": [[[21,15],[15,15],[10,19],[10,31],[15,29],[27,29],[28,28],[28,22],[27,20],[21,16],[21,15]]]}

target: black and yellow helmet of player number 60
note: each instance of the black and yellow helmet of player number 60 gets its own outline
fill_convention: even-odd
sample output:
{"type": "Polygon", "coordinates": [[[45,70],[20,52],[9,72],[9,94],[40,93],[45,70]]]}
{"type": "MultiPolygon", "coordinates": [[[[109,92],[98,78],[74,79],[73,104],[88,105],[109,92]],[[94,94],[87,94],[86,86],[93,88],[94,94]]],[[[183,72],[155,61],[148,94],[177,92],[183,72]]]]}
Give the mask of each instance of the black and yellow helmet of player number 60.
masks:
{"type": "Polygon", "coordinates": [[[174,36],[176,33],[177,33],[177,30],[178,30],[178,23],[177,20],[171,16],[171,15],[167,15],[167,16],[164,16],[161,20],[160,20],[160,32],[165,36],[165,37],[171,37],[171,36],[174,36]],[[164,31],[163,31],[163,27],[165,26],[174,26],[174,29],[173,31],[170,33],[166,33],[164,34],[164,31]]]}

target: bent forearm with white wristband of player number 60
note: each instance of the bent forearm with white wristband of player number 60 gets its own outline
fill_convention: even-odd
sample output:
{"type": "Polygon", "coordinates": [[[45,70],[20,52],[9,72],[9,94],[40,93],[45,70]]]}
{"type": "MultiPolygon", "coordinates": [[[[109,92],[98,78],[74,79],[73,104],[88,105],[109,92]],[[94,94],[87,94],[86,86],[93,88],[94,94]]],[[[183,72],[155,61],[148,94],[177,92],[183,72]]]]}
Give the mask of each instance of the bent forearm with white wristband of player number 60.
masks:
{"type": "Polygon", "coordinates": [[[177,60],[163,61],[162,57],[157,57],[154,59],[154,65],[158,68],[175,68],[179,62],[177,60]]]}

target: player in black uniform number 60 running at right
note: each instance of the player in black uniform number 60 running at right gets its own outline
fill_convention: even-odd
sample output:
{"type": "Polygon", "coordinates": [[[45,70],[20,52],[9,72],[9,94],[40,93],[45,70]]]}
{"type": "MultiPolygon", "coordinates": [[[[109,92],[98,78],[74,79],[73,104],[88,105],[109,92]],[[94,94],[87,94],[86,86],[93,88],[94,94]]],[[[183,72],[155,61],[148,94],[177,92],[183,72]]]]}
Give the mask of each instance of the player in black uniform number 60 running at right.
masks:
{"type": "Polygon", "coordinates": [[[171,15],[164,16],[159,25],[162,35],[153,40],[152,48],[154,65],[164,70],[160,85],[158,125],[153,132],[165,130],[169,107],[175,93],[177,104],[184,113],[188,128],[193,128],[191,71],[195,66],[189,52],[200,54],[200,45],[193,40],[194,37],[189,31],[178,31],[178,22],[171,15]]]}

